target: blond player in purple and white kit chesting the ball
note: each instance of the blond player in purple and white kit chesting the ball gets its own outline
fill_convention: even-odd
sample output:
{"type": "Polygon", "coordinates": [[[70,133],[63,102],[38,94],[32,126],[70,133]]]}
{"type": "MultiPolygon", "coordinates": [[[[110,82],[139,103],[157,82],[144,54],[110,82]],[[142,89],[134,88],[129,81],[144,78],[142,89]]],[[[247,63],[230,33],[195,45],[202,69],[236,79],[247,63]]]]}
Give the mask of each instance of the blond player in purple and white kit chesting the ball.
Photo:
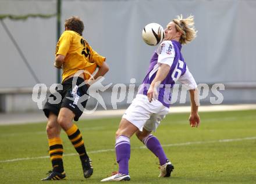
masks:
{"type": "Polygon", "coordinates": [[[116,131],[116,160],[119,171],[106,181],[130,181],[130,137],[135,133],[159,158],[159,177],[169,177],[174,167],[168,160],[159,140],[151,134],[160,124],[160,121],[169,112],[171,92],[170,88],[179,81],[189,89],[191,101],[191,113],[189,117],[191,127],[200,124],[198,115],[197,84],[184,62],[182,53],[183,44],[187,44],[196,37],[194,17],[183,19],[182,15],[173,19],[165,28],[165,38],[155,50],[150,61],[148,73],[136,98],[130,104],[120,121],[116,131]]]}

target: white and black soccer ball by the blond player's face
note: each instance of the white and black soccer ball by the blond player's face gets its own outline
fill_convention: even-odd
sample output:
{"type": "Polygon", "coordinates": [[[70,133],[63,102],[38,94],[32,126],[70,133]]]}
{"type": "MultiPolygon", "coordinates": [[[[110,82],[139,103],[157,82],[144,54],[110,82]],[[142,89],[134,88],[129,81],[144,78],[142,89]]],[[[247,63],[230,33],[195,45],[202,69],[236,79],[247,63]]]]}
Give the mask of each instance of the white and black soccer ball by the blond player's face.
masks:
{"type": "Polygon", "coordinates": [[[142,31],[142,38],[148,45],[157,45],[164,37],[163,27],[157,23],[147,24],[142,31]]]}

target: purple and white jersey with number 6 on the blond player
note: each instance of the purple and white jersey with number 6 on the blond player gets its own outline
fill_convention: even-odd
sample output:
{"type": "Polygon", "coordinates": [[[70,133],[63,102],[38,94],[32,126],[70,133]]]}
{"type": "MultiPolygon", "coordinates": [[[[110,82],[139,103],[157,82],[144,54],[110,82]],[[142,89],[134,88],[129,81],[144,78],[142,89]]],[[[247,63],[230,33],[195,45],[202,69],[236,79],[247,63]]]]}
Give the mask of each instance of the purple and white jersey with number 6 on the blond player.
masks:
{"type": "Polygon", "coordinates": [[[148,68],[147,75],[143,80],[143,84],[141,85],[138,94],[147,95],[148,88],[157,74],[159,63],[168,64],[170,66],[170,71],[167,77],[159,85],[158,100],[164,106],[168,108],[170,107],[170,100],[172,97],[171,89],[175,82],[179,80],[180,76],[184,75],[187,70],[180,49],[182,49],[182,45],[177,41],[163,41],[159,45],[150,60],[150,67],[148,68]]]}

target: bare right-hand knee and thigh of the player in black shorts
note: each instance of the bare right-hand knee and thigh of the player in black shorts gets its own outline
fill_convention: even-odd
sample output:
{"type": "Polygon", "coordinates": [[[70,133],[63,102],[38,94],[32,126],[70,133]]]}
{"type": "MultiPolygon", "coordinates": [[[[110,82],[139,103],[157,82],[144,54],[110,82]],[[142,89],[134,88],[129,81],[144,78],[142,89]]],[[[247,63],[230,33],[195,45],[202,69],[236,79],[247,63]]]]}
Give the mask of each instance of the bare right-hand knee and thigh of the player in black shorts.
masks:
{"type": "Polygon", "coordinates": [[[61,127],[67,131],[69,128],[73,125],[73,118],[75,114],[72,110],[67,109],[66,107],[62,107],[59,111],[58,116],[58,124],[61,125],[61,127]]]}

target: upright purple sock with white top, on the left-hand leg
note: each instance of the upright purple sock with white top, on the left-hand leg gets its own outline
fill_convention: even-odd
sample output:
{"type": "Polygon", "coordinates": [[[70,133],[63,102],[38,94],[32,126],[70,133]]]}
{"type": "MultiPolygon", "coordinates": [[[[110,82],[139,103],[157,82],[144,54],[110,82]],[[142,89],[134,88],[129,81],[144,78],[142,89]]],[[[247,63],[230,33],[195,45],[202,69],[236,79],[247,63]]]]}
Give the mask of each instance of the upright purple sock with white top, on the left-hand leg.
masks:
{"type": "Polygon", "coordinates": [[[116,161],[119,165],[119,173],[129,174],[129,159],[131,153],[130,138],[120,135],[116,138],[116,161]]]}

